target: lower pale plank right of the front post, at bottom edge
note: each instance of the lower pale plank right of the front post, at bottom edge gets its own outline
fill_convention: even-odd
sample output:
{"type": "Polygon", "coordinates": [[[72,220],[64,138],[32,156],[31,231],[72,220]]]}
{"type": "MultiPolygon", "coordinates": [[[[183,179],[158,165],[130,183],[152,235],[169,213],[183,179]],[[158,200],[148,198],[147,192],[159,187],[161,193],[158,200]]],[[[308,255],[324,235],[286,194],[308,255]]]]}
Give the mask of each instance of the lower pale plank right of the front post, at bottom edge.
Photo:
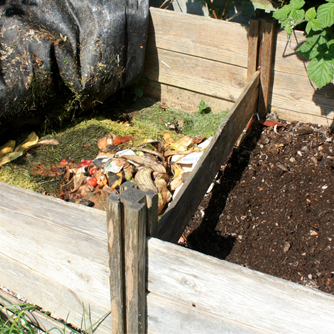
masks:
{"type": "Polygon", "coordinates": [[[189,303],[164,298],[150,292],[148,301],[148,333],[168,334],[259,334],[271,333],[232,321],[199,309],[189,303]]]}

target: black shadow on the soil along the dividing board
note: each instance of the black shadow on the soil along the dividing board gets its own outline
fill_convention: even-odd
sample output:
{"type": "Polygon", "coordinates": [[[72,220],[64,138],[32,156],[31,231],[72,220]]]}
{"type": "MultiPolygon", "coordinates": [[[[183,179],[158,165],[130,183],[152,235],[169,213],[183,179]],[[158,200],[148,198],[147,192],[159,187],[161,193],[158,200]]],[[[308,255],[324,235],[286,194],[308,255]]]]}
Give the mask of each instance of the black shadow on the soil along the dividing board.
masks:
{"type": "MultiPolygon", "coordinates": [[[[233,149],[227,164],[219,171],[218,182],[200,205],[199,209],[203,209],[204,216],[199,220],[197,229],[187,237],[190,248],[219,259],[225,259],[231,253],[236,237],[222,236],[215,228],[226,206],[229,193],[238,184],[248,166],[251,152],[255,149],[262,130],[263,126],[255,123],[253,129],[246,133],[241,144],[233,149]]],[[[199,211],[190,223],[193,226],[196,224],[197,215],[199,211]]]]}

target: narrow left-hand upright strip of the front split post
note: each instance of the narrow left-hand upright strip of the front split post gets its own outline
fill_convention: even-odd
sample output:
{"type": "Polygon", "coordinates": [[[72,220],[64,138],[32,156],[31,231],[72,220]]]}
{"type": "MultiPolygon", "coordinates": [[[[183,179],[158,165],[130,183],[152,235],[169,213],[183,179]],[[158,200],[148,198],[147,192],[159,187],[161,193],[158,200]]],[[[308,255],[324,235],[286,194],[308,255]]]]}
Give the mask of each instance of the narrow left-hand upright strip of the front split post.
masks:
{"type": "Polygon", "coordinates": [[[111,194],[107,201],[108,252],[112,333],[125,333],[125,286],[123,258],[122,205],[120,196],[111,194]]]}

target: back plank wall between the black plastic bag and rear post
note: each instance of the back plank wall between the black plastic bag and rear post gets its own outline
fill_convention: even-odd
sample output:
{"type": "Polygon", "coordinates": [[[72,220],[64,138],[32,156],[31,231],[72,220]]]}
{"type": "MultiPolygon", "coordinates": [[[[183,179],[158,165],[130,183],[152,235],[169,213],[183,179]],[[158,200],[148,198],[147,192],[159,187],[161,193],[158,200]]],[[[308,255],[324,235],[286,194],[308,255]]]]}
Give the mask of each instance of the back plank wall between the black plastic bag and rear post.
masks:
{"type": "Polygon", "coordinates": [[[213,112],[230,108],[247,82],[247,34],[240,24],[151,8],[145,94],[190,112],[201,100],[213,112]]]}

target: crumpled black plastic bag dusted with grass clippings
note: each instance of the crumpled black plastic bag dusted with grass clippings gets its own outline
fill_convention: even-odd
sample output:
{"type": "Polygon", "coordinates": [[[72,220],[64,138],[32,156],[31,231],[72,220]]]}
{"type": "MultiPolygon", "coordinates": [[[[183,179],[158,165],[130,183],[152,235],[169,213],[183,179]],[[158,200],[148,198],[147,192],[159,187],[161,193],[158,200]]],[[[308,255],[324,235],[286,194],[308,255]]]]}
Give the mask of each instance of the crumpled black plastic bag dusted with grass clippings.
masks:
{"type": "Polygon", "coordinates": [[[1,127],[88,110],[141,75],[148,0],[0,0],[0,10],[1,127]]]}

